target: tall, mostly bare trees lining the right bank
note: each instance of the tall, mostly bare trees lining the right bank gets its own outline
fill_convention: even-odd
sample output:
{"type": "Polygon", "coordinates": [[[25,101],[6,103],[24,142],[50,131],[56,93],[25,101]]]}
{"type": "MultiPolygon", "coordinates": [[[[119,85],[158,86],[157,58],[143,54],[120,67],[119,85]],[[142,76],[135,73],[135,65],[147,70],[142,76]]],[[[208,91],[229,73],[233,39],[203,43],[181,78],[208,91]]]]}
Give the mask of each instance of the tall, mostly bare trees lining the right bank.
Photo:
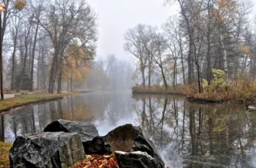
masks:
{"type": "Polygon", "coordinates": [[[212,69],[225,72],[228,82],[254,82],[256,36],[251,23],[253,4],[242,0],[176,0],[179,14],[159,28],[138,24],[125,34],[125,50],[134,56],[140,86],[166,89],[196,83],[203,92],[212,69]]]}

